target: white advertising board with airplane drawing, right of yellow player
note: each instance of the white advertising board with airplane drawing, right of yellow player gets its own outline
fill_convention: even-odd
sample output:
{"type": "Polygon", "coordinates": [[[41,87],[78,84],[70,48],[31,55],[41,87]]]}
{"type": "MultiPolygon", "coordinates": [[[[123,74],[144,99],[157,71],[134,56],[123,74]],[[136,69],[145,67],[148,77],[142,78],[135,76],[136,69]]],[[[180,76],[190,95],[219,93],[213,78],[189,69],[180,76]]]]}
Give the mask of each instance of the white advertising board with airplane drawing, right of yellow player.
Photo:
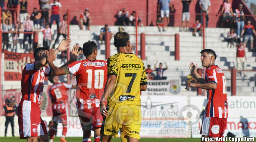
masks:
{"type": "Polygon", "coordinates": [[[140,137],[190,137],[188,123],[179,118],[186,106],[187,96],[142,95],[140,137]]]}

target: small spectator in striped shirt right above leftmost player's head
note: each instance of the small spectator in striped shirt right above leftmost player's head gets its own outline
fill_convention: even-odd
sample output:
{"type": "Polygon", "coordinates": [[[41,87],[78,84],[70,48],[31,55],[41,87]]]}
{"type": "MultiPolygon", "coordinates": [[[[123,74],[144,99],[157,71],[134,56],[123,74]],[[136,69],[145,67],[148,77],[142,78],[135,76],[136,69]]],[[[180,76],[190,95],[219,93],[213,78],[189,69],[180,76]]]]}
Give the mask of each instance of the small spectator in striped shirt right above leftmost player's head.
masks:
{"type": "Polygon", "coordinates": [[[43,47],[50,49],[53,32],[52,32],[52,29],[50,28],[49,23],[46,23],[45,28],[42,28],[41,31],[44,34],[43,47]]]}

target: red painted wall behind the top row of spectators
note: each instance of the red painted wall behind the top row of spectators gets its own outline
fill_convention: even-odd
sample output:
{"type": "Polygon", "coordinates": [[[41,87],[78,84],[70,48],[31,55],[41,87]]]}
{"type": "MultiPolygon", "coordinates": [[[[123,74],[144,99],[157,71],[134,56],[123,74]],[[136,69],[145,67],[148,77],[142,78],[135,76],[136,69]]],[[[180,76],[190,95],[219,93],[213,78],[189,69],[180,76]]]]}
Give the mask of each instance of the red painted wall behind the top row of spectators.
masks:
{"type": "MultiPolygon", "coordinates": [[[[229,0],[232,3],[232,0],[229,0]]],[[[240,0],[239,0],[240,1],[240,0]]],[[[51,1],[53,2],[53,1],[51,1]]],[[[143,25],[147,23],[147,2],[148,2],[148,25],[152,24],[155,26],[155,21],[157,18],[157,2],[158,0],[60,0],[62,4],[62,12],[64,14],[69,8],[71,12],[71,20],[79,21],[80,14],[89,8],[90,14],[92,16],[93,25],[114,25],[116,18],[114,17],[117,10],[121,8],[127,8],[130,13],[132,11],[137,11],[139,17],[142,19],[143,25]]],[[[190,4],[190,22],[189,26],[195,22],[195,19],[200,19],[200,16],[195,16],[195,13],[200,13],[200,7],[198,4],[199,0],[193,0],[190,4]]],[[[216,27],[220,25],[221,19],[216,16],[223,0],[211,0],[211,8],[209,10],[209,27],[216,27]]],[[[174,7],[175,15],[170,15],[170,26],[181,26],[181,15],[182,15],[182,3],[180,0],[172,0],[172,5],[174,7]]],[[[236,3],[233,3],[236,6],[236,3]]],[[[235,8],[233,6],[233,8],[235,8]]],[[[30,0],[28,3],[29,13],[32,12],[34,7],[39,8],[38,0],[30,0]]],[[[244,8],[245,9],[245,8],[244,8]]],[[[159,15],[160,16],[160,15],[159,15]]],[[[165,22],[166,23],[166,22],[165,22]]]]}

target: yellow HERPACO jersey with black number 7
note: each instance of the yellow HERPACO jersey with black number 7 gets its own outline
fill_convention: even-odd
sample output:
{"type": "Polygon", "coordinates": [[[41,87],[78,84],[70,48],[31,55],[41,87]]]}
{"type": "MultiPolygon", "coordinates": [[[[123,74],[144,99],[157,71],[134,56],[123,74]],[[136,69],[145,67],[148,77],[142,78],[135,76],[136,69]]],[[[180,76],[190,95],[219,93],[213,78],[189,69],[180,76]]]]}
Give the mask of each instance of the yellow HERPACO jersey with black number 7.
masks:
{"type": "Polygon", "coordinates": [[[117,53],[108,58],[108,75],[116,75],[114,91],[108,105],[122,102],[140,106],[140,85],[147,84],[142,60],[130,53],[117,53]]]}

